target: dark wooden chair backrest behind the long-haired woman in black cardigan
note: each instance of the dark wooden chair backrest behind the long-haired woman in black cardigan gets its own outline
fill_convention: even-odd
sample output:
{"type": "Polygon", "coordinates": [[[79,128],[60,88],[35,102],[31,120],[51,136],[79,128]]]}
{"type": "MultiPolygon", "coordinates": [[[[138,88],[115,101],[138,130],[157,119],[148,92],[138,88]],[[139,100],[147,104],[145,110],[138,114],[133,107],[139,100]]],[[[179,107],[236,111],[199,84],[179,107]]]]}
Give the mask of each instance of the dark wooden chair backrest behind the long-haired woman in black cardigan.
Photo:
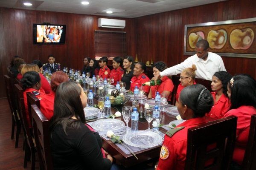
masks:
{"type": "Polygon", "coordinates": [[[41,159],[39,161],[40,165],[45,170],[53,170],[48,119],[37,105],[31,105],[31,112],[35,144],[37,146],[38,157],[41,159]]]}

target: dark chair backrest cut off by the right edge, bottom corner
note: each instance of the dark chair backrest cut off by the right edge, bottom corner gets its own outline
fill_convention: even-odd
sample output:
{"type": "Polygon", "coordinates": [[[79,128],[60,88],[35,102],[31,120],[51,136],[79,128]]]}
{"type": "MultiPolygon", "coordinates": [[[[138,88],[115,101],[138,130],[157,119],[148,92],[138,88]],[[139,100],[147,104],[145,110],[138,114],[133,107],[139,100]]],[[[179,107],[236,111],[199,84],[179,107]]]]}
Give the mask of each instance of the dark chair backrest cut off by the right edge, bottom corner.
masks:
{"type": "Polygon", "coordinates": [[[241,169],[256,170],[256,114],[251,116],[249,137],[241,169]]]}

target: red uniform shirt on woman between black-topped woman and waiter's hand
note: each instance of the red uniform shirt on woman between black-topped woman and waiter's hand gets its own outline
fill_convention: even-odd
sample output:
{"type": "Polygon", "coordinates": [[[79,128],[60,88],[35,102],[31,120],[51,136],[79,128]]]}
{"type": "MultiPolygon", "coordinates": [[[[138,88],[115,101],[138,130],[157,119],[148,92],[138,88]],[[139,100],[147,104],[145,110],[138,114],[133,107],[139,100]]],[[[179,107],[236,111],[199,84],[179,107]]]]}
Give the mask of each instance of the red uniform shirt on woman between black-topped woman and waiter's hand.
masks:
{"type": "MultiPolygon", "coordinates": [[[[138,86],[138,88],[145,82],[149,82],[150,79],[144,74],[140,74],[140,76],[137,78],[137,76],[134,76],[131,78],[131,91],[134,91],[135,86],[138,86]]],[[[149,92],[150,86],[145,85],[144,86],[145,93],[149,92]]]]}

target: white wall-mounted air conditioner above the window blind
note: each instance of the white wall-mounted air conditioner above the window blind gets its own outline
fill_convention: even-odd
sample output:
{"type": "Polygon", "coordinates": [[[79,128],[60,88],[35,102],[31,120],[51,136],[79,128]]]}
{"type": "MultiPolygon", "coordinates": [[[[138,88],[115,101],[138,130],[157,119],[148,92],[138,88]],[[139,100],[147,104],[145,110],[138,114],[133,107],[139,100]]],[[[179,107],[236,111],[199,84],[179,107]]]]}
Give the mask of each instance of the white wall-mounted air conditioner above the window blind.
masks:
{"type": "Polygon", "coordinates": [[[99,27],[125,28],[125,20],[114,20],[114,19],[99,18],[98,22],[99,22],[99,27]]]}

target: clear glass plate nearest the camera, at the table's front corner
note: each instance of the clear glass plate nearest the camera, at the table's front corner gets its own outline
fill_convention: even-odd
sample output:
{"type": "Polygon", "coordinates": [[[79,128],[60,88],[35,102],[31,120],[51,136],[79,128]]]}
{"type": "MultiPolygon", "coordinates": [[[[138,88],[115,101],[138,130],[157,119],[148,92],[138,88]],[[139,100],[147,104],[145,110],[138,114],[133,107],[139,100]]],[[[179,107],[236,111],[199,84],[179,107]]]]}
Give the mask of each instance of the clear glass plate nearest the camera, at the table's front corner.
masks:
{"type": "Polygon", "coordinates": [[[126,133],[122,140],[130,146],[147,148],[160,144],[162,137],[155,132],[139,130],[126,133]]]}

